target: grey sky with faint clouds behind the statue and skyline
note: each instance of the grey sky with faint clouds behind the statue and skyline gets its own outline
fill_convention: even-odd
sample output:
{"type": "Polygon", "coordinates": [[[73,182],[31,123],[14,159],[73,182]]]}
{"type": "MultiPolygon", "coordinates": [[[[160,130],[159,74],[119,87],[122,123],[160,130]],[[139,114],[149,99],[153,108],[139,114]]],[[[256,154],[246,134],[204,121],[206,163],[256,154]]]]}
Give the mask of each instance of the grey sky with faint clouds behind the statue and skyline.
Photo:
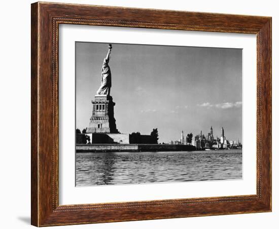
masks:
{"type": "MultiPolygon", "coordinates": [[[[150,134],[159,142],[213,127],[242,138],[242,50],[113,44],[111,96],[121,133],[150,134]]],[[[89,125],[107,43],[76,42],[76,126],[89,125]]]]}

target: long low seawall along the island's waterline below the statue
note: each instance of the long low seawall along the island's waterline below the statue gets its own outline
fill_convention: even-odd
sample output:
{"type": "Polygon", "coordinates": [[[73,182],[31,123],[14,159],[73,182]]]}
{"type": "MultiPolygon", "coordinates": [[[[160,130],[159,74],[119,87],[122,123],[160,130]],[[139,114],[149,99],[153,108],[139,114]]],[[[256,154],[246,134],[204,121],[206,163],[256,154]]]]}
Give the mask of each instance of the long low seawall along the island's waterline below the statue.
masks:
{"type": "Polygon", "coordinates": [[[146,152],[146,151],[193,151],[193,145],[169,144],[77,144],[76,152],[146,152]]]}

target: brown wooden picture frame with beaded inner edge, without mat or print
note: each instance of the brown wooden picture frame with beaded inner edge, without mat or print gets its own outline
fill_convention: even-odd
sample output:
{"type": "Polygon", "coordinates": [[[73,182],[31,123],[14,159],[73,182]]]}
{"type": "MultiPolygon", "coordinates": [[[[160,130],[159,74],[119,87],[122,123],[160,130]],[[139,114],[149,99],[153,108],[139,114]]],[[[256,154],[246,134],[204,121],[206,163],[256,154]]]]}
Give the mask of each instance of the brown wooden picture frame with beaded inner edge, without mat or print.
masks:
{"type": "MultiPolygon", "coordinates": [[[[255,76],[256,77],[256,76],[255,76]]],[[[31,224],[35,226],[271,211],[271,18],[73,4],[31,5],[31,224]],[[58,25],[257,35],[257,194],[58,204],[58,25]]]]}

